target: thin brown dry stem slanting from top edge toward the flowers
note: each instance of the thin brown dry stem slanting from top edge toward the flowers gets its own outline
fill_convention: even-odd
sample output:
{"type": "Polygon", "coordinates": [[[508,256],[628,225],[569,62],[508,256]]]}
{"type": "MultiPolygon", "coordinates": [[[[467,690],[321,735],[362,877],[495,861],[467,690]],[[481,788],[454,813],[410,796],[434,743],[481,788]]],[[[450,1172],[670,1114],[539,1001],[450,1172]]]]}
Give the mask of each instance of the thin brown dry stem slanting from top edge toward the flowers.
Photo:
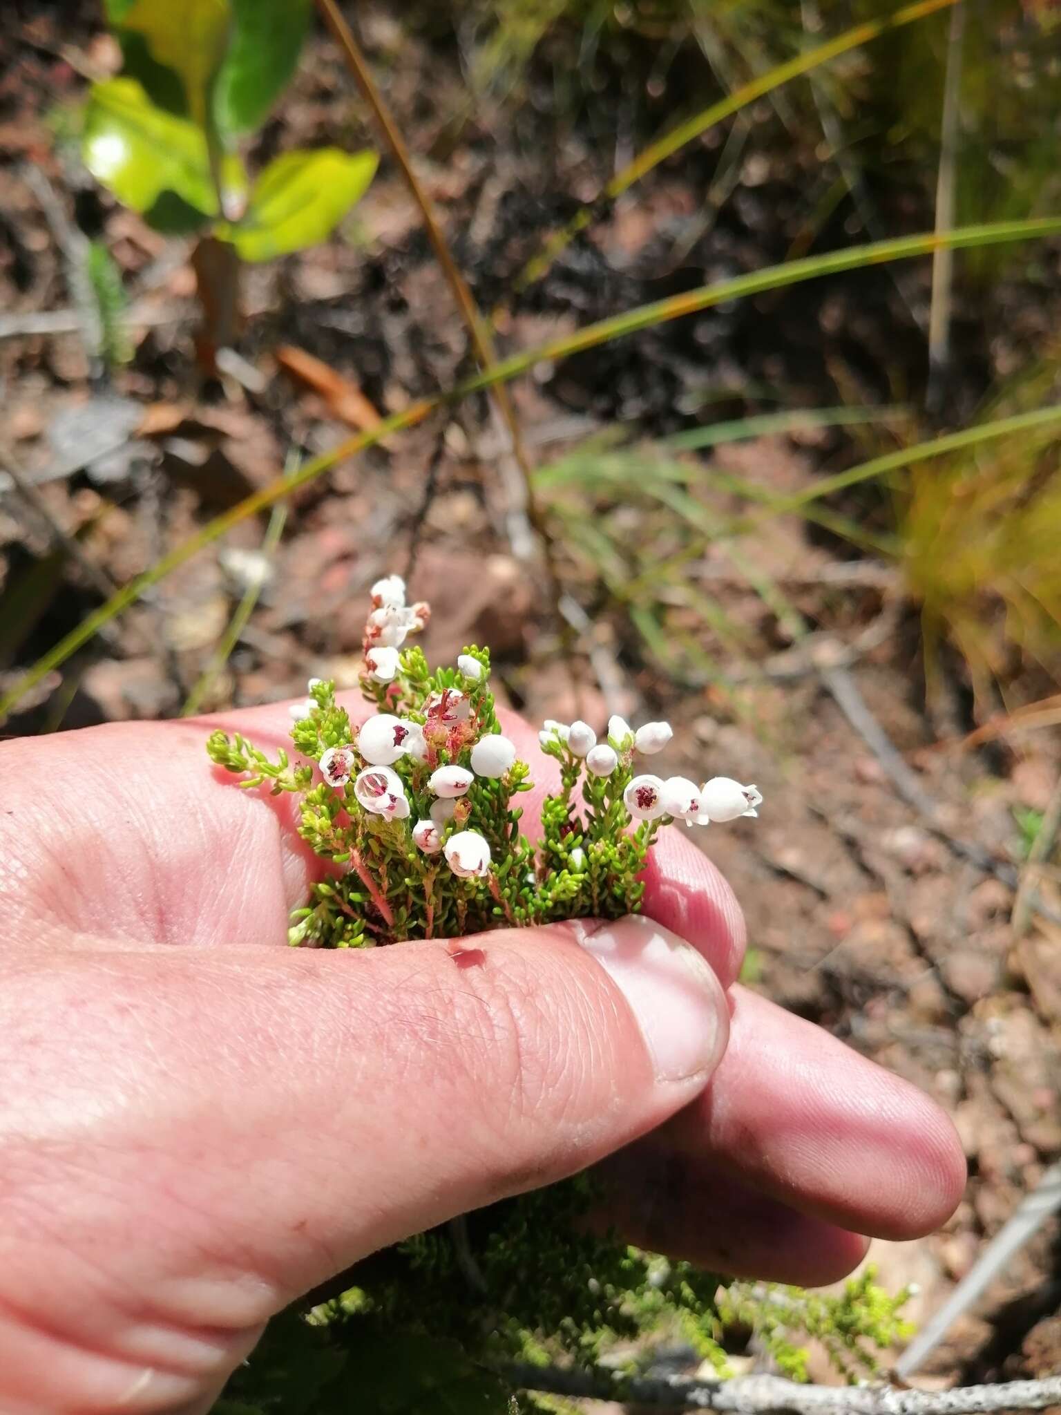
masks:
{"type": "MultiPolygon", "coordinates": [[[[402,175],[405,177],[406,184],[410,192],[413,194],[416,204],[420,208],[420,214],[423,215],[424,226],[427,229],[427,236],[431,242],[431,246],[434,248],[439,265],[441,266],[443,275],[446,276],[450,290],[453,291],[453,296],[460,308],[461,318],[464,320],[464,324],[468,330],[468,337],[471,338],[471,345],[475,351],[475,358],[482,372],[489,374],[498,361],[497,350],[494,348],[494,338],[491,335],[488,324],[478,311],[478,307],[475,304],[475,300],[472,299],[467,282],[464,280],[464,276],[460,273],[460,270],[454,263],[454,259],[450,253],[450,248],[446,243],[446,236],[443,235],[441,226],[439,225],[439,218],[436,216],[431,198],[427,195],[416,173],[413,171],[412,158],[409,154],[409,149],[405,144],[405,139],[395,126],[395,122],[390,117],[390,112],[386,103],[383,102],[383,95],[376,88],[375,79],[369,72],[368,64],[365,62],[365,58],[361,50],[358,48],[356,40],[354,38],[349,25],[340,14],[335,0],[317,0],[317,6],[321,11],[321,16],[324,17],[324,23],[328,27],[331,37],[342,50],[342,54],[345,55],[347,59],[347,67],[349,68],[349,72],[354,75],[354,81],[361,89],[365,102],[372,109],[376,122],[382,127],[383,136],[386,137],[388,146],[390,147],[395,161],[400,167],[402,175]]],[[[501,420],[504,422],[505,429],[508,430],[508,437],[511,441],[511,454],[515,458],[515,463],[519,468],[519,475],[522,481],[523,511],[526,514],[526,519],[530,524],[530,529],[535,532],[535,536],[538,538],[538,542],[542,546],[542,558],[545,560],[545,569],[549,577],[549,590],[553,601],[553,613],[556,614],[560,623],[563,642],[564,642],[564,655],[567,658],[569,669],[572,671],[572,682],[577,692],[577,675],[574,672],[574,665],[572,662],[569,625],[559,611],[559,603],[563,596],[563,584],[560,582],[560,573],[556,565],[556,552],[553,548],[552,535],[549,533],[549,528],[545,524],[545,518],[535,497],[530,461],[526,456],[526,449],[523,447],[523,441],[519,433],[519,422],[516,419],[512,399],[509,398],[508,389],[504,386],[504,383],[494,383],[489,392],[497,405],[498,413],[501,415],[501,420]]]]}

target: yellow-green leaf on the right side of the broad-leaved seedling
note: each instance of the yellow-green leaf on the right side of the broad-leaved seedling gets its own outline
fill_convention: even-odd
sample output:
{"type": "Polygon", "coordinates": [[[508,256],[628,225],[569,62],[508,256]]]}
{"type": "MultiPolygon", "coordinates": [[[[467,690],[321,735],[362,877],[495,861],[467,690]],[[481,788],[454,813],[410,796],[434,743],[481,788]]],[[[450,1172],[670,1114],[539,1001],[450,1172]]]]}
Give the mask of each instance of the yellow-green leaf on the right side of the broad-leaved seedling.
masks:
{"type": "Polygon", "coordinates": [[[218,235],[243,260],[272,260],[303,250],[331,235],[366,191],[376,154],[347,154],[338,147],[284,153],[255,183],[246,215],[218,235]]]}

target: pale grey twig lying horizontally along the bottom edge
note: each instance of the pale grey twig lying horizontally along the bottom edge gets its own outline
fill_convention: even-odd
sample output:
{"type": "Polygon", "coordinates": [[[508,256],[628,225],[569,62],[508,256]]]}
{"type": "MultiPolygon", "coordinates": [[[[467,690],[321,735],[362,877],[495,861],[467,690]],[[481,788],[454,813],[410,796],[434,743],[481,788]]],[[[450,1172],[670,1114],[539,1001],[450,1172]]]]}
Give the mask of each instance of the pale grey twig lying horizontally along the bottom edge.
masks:
{"type": "Polygon", "coordinates": [[[955,1391],[801,1385],[781,1375],[738,1375],[730,1381],[678,1375],[624,1378],[618,1371],[570,1371],[529,1364],[505,1367],[501,1375],[521,1390],[550,1395],[624,1399],[634,1405],[723,1411],[726,1415],[985,1415],[989,1411],[1041,1411],[1061,1402],[1061,1375],[955,1391]]]}

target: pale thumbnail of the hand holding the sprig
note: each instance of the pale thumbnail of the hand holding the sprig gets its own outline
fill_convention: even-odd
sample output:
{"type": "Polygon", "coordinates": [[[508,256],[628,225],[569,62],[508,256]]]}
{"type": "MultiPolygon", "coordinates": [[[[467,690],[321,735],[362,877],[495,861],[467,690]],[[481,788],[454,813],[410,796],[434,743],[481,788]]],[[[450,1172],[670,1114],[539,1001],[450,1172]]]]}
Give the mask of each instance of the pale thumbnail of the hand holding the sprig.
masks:
{"type": "Polygon", "coordinates": [[[581,947],[630,1003],[656,1080],[710,1074],[726,1047],[729,1012],[707,961],[683,938],[638,914],[583,927],[580,935],[581,947]]]}

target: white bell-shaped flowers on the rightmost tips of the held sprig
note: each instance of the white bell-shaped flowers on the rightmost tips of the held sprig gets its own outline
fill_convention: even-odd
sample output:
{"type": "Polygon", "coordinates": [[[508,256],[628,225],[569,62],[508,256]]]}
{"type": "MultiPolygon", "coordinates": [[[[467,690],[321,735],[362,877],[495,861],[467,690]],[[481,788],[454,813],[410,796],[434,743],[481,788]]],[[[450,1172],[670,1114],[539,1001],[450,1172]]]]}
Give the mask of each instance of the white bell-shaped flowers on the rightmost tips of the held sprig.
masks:
{"type": "MultiPolygon", "coordinates": [[[[589,723],[546,719],[538,739],[543,747],[563,743],[574,757],[586,761],[586,770],[594,777],[610,777],[625,754],[639,753],[649,757],[673,737],[666,722],[647,722],[637,732],[618,715],[608,719],[604,741],[589,723]]],[[[686,825],[710,825],[713,821],[736,821],[738,815],[758,815],[755,809],[763,795],[754,785],[741,785],[731,777],[712,777],[702,787],[688,777],[637,775],[622,792],[622,804],[635,821],[658,821],[671,816],[686,825]]]]}

